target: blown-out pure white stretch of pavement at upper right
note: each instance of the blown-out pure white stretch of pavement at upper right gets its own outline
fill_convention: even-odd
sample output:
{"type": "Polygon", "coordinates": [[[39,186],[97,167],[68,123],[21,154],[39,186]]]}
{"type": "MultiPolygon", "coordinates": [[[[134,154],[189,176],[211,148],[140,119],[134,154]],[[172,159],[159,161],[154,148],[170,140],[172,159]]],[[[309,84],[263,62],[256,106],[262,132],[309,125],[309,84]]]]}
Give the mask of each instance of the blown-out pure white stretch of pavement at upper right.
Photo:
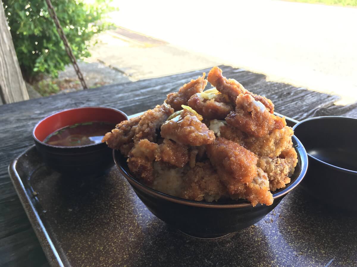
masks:
{"type": "MultiPolygon", "coordinates": [[[[119,26],[207,62],[357,100],[357,9],[286,1],[115,1],[119,26]]],[[[113,53],[113,52],[112,52],[113,53]]],[[[155,52],[147,51],[148,57],[155,52]]],[[[170,66],[170,57],[166,62],[170,66]]],[[[190,59],[186,70],[195,69],[190,59]],[[191,67],[192,66],[192,67],[191,67]]]]}

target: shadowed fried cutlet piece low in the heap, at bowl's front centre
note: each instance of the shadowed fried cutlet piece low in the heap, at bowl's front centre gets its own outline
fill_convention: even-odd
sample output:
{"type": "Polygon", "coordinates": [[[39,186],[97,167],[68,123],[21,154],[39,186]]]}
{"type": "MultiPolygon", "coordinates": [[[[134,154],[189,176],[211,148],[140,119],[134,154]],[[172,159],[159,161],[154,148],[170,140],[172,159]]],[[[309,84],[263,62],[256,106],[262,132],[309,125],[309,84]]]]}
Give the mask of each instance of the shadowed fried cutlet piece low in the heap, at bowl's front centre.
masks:
{"type": "Polygon", "coordinates": [[[209,161],[197,163],[187,172],[185,178],[181,198],[211,202],[227,194],[226,187],[209,161]]]}

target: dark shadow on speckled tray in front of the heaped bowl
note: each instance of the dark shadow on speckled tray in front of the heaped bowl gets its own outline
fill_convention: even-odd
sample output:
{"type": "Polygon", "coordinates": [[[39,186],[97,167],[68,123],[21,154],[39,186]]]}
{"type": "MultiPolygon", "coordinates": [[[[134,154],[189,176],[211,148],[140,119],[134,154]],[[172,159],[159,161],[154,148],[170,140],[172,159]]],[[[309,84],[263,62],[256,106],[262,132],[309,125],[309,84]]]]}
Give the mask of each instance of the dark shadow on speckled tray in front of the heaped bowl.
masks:
{"type": "Polygon", "coordinates": [[[231,266],[244,263],[254,266],[258,262],[271,262],[273,253],[259,226],[219,239],[196,239],[155,218],[143,229],[142,242],[132,249],[141,251],[131,255],[127,262],[145,266],[156,258],[155,266],[231,266]],[[264,248],[264,249],[261,249],[264,248]]]}

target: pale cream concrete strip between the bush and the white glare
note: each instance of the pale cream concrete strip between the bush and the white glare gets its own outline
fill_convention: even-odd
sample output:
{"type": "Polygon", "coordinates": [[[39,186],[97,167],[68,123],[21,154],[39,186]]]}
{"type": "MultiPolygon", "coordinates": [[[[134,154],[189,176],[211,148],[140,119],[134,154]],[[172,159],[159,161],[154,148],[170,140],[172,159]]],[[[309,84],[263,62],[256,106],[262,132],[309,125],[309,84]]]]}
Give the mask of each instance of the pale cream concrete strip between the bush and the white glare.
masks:
{"type": "Polygon", "coordinates": [[[202,69],[220,63],[213,57],[187,52],[169,43],[140,36],[140,39],[136,38],[140,41],[136,41],[115,31],[101,33],[97,37],[98,44],[91,49],[92,57],[86,61],[105,63],[125,73],[131,80],[202,69]]]}

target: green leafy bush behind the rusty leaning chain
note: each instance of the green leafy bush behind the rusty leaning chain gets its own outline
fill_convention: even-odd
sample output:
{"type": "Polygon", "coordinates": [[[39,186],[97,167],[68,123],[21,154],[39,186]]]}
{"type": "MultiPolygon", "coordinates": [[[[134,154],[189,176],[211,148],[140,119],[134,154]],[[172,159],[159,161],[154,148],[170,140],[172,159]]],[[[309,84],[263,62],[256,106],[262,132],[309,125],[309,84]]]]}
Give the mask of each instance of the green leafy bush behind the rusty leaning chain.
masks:
{"type": "MultiPolygon", "coordinates": [[[[89,41],[106,30],[111,0],[52,0],[57,17],[77,59],[89,57],[89,41]]],[[[3,0],[7,22],[24,78],[57,77],[71,63],[45,0],[3,0]]]]}

